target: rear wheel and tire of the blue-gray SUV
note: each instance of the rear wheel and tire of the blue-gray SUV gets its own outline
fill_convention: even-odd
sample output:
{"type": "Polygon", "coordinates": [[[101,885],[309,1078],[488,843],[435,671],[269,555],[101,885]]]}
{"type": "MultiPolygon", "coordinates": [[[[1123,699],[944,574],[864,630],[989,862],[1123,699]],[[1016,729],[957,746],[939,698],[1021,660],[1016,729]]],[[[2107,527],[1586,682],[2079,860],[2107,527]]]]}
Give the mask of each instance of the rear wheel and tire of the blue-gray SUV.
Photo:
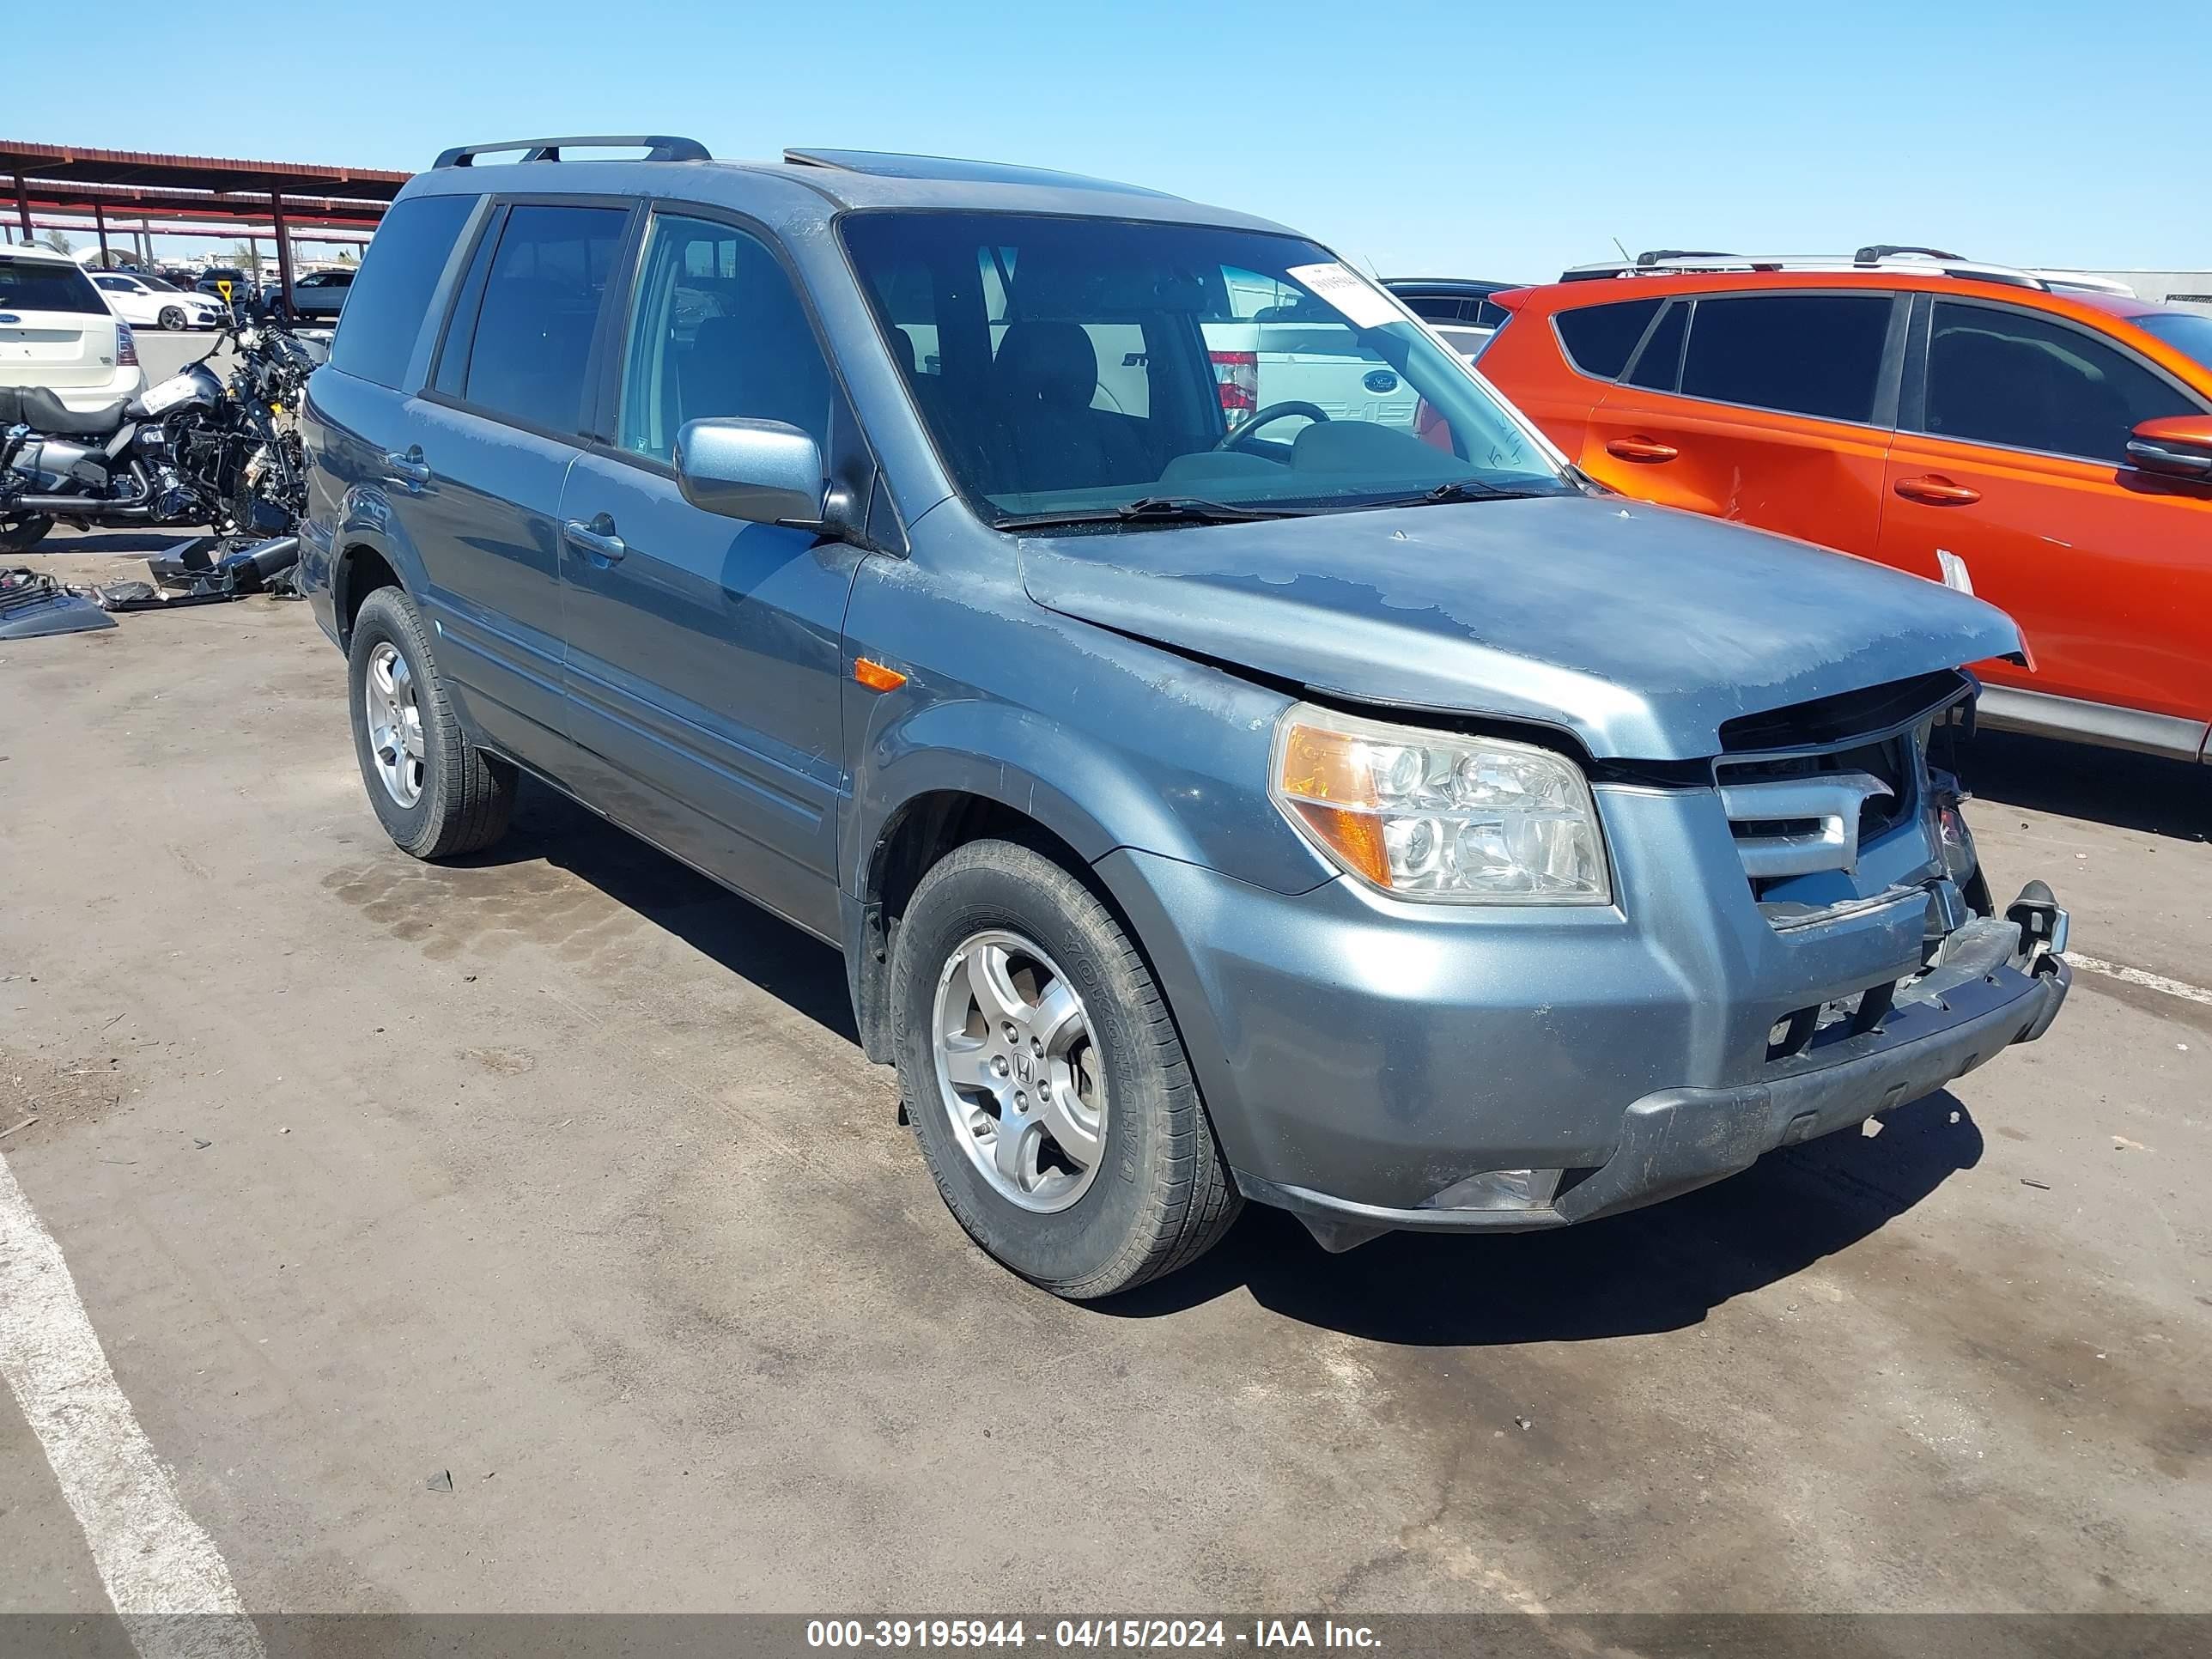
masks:
{"type": "Polygon", "coordinates": [[[453,858],[507,834],[515,768],[460,728],[403,588],[376,588],[347,648],[354,754],[385,834],[416,858],[453,858]]]}

